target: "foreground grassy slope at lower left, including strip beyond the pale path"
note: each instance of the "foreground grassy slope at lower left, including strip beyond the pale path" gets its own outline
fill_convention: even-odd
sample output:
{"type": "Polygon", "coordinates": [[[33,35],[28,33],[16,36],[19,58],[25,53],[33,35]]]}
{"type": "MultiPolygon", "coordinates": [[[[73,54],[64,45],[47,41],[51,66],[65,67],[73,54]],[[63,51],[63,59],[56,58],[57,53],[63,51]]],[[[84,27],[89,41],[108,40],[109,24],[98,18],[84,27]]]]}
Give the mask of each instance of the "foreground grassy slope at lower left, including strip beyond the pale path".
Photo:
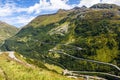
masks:
{"type": "Polygon", "coordinates": [[[10,58],[7,53],[0,54],[0,80],[74,80],[60,75],[60,67],[15,55],[21,63],[10,58]],[[27,61],[31,67],[25,64],[28,64],[27,61]]]}

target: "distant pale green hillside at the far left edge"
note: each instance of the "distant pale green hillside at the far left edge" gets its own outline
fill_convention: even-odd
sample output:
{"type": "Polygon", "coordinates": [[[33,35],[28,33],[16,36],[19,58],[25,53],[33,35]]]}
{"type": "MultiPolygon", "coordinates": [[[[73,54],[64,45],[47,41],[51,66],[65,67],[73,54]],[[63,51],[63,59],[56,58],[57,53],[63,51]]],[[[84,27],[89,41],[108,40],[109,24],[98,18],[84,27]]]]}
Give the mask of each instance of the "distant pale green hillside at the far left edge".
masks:
{"type": "Polygon", "coordinates": [[[0,43],[5,39],[15,35],[18,29],[12,25],[0,21],[0,43]]]}

